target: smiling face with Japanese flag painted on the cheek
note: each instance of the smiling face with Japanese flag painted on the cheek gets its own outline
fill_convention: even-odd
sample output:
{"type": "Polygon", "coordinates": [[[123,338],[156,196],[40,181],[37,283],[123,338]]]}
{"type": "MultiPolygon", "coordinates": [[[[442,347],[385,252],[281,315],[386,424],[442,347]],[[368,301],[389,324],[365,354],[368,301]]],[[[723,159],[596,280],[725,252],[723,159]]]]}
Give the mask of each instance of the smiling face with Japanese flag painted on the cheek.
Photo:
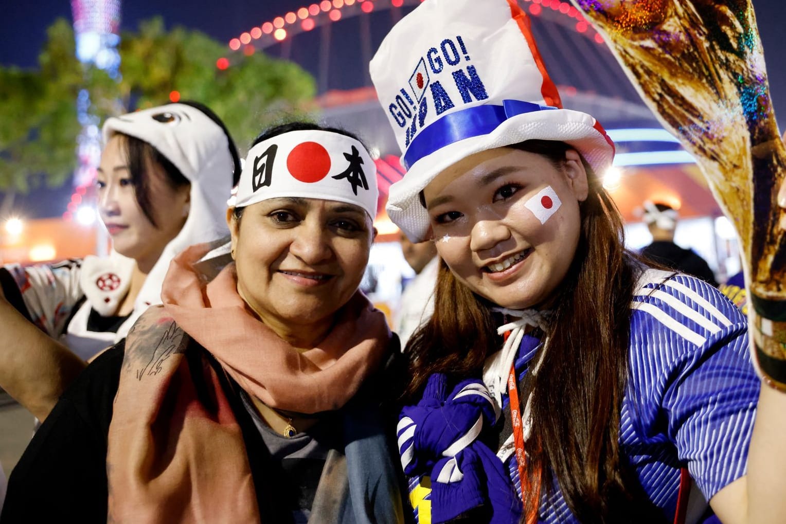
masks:
{"type": "Polygon", "coordinates": [[[439,255],[477,295],[498,306],[542,306],[571,266],[586,200],[581,157],[560,166],[514,148],[468,156],[423,192],[439,255]]]}

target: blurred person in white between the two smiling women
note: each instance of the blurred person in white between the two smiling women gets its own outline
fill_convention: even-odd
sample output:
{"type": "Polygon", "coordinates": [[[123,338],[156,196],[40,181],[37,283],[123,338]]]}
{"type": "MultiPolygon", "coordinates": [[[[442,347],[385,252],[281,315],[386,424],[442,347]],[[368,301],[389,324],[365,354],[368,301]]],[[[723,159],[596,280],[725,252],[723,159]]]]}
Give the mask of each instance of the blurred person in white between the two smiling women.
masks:
{"type": "Polygon", "coordinates": [[[404,283],[404,291],[394,317],[393,331],[399,335],[404,350],[406,341],[410,339],[413,332],[434,313],[434,285],[439,269],[439,257],[437,248],[431,240],[415,244],[401,233],[399,242],[406,263],[415,272],[415,277],[404,283]]]}

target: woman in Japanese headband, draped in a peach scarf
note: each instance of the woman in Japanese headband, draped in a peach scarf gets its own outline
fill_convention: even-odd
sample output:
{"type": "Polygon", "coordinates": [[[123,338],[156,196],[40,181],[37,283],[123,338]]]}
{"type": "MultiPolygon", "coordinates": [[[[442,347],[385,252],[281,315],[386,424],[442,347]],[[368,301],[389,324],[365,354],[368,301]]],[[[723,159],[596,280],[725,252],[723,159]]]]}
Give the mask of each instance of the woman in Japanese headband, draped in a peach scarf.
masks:
{"type": "Polygon", "coordinates": [[[376,199],[350,134],[296,123],[258,137],[230,242],[174,258],[163,306],[35,434],[0,521],[46,493],[43,511],[79,522],[402,522],[380,414],[398,344],[358,291],[376,199]]]}

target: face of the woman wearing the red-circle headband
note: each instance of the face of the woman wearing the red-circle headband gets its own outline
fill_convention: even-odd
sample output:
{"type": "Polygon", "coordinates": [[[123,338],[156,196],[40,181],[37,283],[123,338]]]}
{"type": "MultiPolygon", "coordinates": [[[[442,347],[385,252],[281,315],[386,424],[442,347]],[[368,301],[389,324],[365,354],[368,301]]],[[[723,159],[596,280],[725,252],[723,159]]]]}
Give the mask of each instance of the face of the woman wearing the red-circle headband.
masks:
{"type": "Polygon", "coordinates": [[[274,329],[332,321],[358,289],[374,237],[362,208],[334,200],[263,200],[228,222],[237,292],[274,329]]]}

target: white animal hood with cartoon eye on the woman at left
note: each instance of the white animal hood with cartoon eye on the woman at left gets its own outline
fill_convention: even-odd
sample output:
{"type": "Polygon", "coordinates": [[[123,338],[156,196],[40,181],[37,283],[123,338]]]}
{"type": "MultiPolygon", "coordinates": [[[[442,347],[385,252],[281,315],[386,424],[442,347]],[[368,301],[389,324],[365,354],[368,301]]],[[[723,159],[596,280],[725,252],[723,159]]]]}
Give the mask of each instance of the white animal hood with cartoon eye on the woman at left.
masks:
{"type": "Polygon", "coordinates": [[[240,176],[240,160],[224,124],[201,104],[167,104],[107,119],[104,141],[116,133],[152,145],[191,183],[189,216],[164,247],[134,302],[134,313],[141,313],[161,303],[161,283],[174,255],[191,244],[229,234],[226,200],[240,176]]]}

